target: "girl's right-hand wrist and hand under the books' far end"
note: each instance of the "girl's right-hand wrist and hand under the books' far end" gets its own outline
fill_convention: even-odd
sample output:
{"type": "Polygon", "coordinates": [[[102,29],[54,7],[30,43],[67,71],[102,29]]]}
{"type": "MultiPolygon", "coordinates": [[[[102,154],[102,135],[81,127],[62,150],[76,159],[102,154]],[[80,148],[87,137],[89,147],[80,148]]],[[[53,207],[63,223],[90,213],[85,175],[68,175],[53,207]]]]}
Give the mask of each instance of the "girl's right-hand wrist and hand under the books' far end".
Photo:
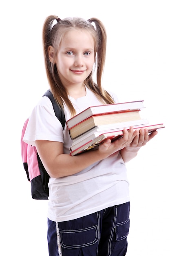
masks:
{"type": "Polygon", "coordinates": [[[137,155],[139,149],[146,145],[146,143],[155,137],[155,135],[157,135],[157,131],[154,131],[149,135],[148,129],[140,129],[132,140],[132,143],[120,151],[124,162],[128,162],[134,158],[137,155]]]}

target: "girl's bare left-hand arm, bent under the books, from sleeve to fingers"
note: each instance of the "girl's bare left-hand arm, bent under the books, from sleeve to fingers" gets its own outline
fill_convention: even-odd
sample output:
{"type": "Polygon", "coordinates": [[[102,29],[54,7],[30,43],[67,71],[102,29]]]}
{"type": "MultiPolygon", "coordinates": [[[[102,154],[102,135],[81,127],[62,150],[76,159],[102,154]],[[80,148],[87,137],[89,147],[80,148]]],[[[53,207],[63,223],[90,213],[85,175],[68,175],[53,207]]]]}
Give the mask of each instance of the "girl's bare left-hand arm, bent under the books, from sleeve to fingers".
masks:
{"type": "Polygon", "coordinates": [[[90,150],[76,156],[64,154],[62,142],[36,140],[35,145],[46,171],[51,177],[57,178],[73,175],[91,164],[107,158],[130,145],[135,134],[136,131],[133,132],[132,127],[129,131],[124,129],[124,135],[121,139],[113,143],[108,139],[97,150],[90,150]]]}

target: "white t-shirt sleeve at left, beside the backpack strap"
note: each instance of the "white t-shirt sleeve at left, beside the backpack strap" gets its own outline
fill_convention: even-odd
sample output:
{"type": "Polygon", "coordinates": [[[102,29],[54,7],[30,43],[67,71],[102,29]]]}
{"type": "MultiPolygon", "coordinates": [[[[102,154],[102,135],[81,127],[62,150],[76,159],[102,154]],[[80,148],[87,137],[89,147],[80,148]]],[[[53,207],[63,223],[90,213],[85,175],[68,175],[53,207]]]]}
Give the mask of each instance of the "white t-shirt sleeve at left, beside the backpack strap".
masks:
{"type": "Polygon", "coordinates": [[[52,103],[48,97],[42,97],[33,109],[26,127],[23,141],[35,146],[35,140],[63,142],[63,129],[55,116],[52,103]]]}

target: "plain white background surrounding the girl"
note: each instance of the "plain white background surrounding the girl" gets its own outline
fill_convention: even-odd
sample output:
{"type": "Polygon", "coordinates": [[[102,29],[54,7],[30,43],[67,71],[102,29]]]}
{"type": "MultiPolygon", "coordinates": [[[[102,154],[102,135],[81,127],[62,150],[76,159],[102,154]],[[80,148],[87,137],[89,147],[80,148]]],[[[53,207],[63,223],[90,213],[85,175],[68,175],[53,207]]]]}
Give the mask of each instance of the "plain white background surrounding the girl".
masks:
{"type": "Polygon", "coordinates": [[[115,92],[120,102],[144,100],[150,123],[166,126],[127,164],[131,222],[126,255],[170,255],[168,0],[1,2],[0,255],[48,255],[47,201],[31,198],[20,136],[25,119],[49,88],[42,26],[51,14],[101,19],[108,34],[104,87],[115,92]]]}

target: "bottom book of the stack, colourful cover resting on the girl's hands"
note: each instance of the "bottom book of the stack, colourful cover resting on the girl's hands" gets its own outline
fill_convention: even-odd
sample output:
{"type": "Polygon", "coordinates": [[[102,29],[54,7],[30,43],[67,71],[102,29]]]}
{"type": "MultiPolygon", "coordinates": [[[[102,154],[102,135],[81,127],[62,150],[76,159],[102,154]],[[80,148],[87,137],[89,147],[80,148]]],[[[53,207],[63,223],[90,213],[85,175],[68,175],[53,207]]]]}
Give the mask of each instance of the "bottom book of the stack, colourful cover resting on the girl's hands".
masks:
{"type": "MultiPolygon", "coordinates": [[[[155,124],[155,125],[146,125],[146,126],[136,126],[134,129],[140,128],[148,128],[148,132],[151,133],[157,129],[164,128],[163,124],[155,124]]],[[[129,129],[129,128],[127,128],[129,129]]],[[[99,144],[103,143],[106,139],[111,139],[114,141],[116,139],[120,139],[123,136],[123,129],[121,130],[112,130],[110,132],[103,132],[102,134],[93,134],[86,138],[86,140],[82,140],[82,144],[77,143],[72,147],[70,147],[70,155],[74,156],[80,153],[83,153],[87,150],[91,150],[99,146],[99,144]],[[85,142],[86,141],[86,142],[85,142]]]]}

